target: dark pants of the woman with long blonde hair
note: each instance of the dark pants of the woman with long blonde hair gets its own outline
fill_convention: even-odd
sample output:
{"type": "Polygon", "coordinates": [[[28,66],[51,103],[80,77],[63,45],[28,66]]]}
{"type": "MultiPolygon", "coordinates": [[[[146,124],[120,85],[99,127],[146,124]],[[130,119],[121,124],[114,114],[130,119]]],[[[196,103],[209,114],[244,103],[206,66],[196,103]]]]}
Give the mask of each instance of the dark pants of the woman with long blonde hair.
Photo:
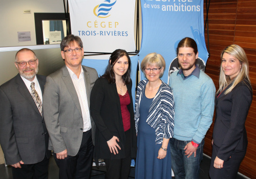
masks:
{"type": "Polygon", "coordinates": [[[246,154],[246,149],[235,150],[228,161],[224,161],[223,168],[214,168],[214,161],[219,151],[219,147],[215,144],[212,145],[212,155],[210,161],[209,175],[211,179],[233,179],[237,177],[238,169],[244,156],[246,154]]]}

